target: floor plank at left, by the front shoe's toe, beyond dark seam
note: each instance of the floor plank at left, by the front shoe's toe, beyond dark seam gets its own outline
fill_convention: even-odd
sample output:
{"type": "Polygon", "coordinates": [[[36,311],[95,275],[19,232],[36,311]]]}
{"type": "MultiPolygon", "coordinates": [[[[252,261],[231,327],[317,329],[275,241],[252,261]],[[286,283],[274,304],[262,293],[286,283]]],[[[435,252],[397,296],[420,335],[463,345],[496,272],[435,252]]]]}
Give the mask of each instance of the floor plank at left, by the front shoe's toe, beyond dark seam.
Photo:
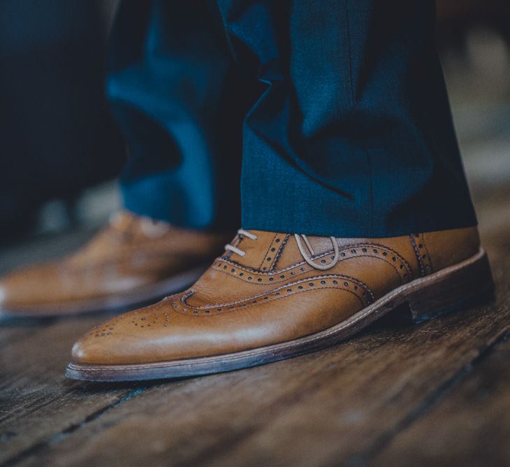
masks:
{"type": "Polygon", "coordinates": [[[27,335],[3,347],[0,463],[59,436],[131,394],[132,387],[77,385],[64,377],[71,345],[98,319],[101,317],[62,319],[29,329],[27,335]]]}

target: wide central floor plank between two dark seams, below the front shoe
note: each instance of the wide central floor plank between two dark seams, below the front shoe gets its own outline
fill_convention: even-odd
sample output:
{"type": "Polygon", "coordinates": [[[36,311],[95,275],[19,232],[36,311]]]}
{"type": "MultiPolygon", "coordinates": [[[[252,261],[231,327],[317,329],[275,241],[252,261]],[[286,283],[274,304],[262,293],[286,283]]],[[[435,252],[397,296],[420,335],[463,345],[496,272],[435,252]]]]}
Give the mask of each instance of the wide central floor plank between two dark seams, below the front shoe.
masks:
{"type": "MultiPolygon", "coordinates": [[[[508,266],[508,256],[498,261],[508,266]]],[[[363,464],[509,329],[508,299],[505,292],[415,327],[386,323],[290,361],[154,387],[24,464],[363,464]]]]}

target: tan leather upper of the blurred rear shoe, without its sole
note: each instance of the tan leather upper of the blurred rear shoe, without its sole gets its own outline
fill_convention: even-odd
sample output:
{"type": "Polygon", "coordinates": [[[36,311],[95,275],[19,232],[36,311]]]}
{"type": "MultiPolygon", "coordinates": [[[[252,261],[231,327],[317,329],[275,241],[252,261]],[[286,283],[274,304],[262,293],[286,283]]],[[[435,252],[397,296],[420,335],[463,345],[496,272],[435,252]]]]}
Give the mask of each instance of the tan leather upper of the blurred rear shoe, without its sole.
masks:
{"type": "Polygon", "coordinates": [[[1,306],[20,309],[122,294],[207,264],[225,241],[224,235],[177,229],[124,211],[75,254],[1,278],[1,306]]]}

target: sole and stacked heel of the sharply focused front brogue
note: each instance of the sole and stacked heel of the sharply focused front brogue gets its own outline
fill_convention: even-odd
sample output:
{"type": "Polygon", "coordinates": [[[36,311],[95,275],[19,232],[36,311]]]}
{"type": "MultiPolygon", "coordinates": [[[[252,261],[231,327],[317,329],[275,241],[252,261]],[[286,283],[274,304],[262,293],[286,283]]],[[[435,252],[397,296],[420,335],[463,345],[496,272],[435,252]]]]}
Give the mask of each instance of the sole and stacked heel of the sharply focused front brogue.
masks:
{"type": "Polygon", "coordinates": [[[149,364],[70,363],[66,368],[66,376],[74,380],[110,382],[156,380],[221,373],[268,364],[330,347],[406,304],[411,318],[420,322],[442,312],[469,306],[481,296],[492,294],[493,290],[488,258],[481,249],[465,261],[394,289],[340,324],[303,338],[231,354],[149,364]]]}

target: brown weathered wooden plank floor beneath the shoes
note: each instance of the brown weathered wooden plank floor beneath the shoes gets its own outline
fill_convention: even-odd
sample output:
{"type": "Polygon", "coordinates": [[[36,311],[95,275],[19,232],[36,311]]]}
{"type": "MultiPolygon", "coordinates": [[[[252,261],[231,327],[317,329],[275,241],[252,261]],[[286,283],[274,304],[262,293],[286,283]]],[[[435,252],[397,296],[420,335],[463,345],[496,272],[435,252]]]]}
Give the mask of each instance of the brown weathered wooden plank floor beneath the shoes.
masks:
{"type": "MultiPolygon", "coordinates": [[[[0,324],[5,466],[509,466],[510,192],[477,202],[494,301],[323,352],[151,384],[64,378],[103,319],[0,324]]],[[[71,238],[6,250],[4,269],[71,238]]]]}

